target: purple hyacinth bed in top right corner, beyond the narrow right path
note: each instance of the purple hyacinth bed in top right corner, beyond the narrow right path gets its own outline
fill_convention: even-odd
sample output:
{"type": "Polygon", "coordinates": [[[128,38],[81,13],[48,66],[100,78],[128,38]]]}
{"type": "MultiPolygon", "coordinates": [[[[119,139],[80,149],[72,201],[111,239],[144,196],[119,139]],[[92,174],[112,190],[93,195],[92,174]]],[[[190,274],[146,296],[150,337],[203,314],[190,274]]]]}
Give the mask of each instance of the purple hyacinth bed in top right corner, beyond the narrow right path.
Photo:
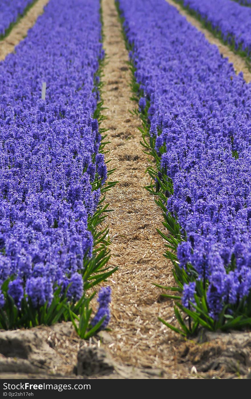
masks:
{"type": "MultiPolygon", "coordinates": [[[[251,9],[231,0],[176,0],[195,11],[235,49],[251,56],[251,9]]],[[[251,4],[251,2],[249,2],[251,4]]]]}

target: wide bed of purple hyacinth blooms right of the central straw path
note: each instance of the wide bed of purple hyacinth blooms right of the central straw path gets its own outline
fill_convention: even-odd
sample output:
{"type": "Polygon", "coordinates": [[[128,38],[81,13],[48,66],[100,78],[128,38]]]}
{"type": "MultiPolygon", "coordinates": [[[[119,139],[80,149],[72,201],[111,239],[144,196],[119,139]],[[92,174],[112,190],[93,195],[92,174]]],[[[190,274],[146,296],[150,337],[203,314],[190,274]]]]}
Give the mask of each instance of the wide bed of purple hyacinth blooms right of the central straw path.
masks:
{"type": "MultiPolygon", "coordinates": [[[[156,150],[166,146],[167,210],[187,239],[177,249],[180,267],[189,263],[208,281],[216,319],[251,288],[251,85],[166,2],[120,7],[136,81],[150,101],[150,134],[156,150]]],[[[184,287],[184,304],[194,288],[184,287]]]]}

